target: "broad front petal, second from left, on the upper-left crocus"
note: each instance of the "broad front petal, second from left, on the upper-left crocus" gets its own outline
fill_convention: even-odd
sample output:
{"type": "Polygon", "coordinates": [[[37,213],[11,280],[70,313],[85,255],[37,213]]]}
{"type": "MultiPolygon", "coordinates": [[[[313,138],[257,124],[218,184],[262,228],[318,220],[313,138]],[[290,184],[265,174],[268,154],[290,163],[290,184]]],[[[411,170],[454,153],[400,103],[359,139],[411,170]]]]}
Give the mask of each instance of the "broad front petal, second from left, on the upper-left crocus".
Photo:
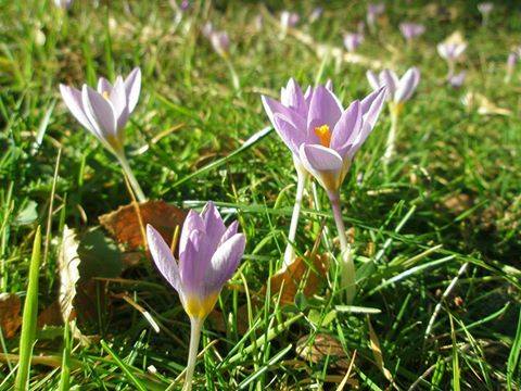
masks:
{"type": "Polygon", "coordinates": [[[94,127],[98,126],[103,137],[116,137],[116,116],[112,103],[89,86],[84,86],[81,100],[87,117],[94,127]]]}

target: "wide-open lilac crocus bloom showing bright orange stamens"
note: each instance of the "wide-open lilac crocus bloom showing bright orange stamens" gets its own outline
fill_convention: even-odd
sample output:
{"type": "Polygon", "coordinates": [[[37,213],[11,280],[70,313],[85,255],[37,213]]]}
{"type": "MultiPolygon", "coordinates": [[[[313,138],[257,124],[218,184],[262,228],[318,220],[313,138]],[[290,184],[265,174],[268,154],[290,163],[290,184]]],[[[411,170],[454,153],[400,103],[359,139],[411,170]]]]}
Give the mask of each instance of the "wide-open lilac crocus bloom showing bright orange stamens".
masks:
{"type": "Polygon", "coordinates": [[[371,133],[385,98],[381,88],[343,109],[327,86],[306,93],[290,79],[281,102],[263,97],[271,124],[301,164],[328,191],[338,191],[351,162],[371,133]]]}

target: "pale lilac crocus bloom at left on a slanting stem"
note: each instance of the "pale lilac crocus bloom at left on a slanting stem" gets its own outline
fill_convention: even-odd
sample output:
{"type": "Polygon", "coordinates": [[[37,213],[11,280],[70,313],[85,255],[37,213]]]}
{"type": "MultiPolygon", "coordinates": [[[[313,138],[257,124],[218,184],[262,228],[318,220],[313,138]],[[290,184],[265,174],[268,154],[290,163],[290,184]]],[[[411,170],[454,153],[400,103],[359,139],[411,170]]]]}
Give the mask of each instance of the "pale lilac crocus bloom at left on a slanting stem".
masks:
{"type": "Polygon", "coordinates": [[[124,80],[112,85],[101,77],[98,90],[84,85],[81,90],[60,85],[63,101],[78,122],[116,155],[123,153],[124,127],[136,109],[141,90],[141,71],[135,68],[124,80]]]}

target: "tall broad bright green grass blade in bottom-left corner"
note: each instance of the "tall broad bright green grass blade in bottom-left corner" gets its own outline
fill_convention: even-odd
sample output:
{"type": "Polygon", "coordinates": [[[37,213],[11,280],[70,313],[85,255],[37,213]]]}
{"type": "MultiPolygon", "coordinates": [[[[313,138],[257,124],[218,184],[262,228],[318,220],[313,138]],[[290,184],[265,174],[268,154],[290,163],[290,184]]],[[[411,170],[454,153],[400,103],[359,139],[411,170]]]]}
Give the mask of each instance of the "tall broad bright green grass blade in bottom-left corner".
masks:
{"type": "Polygon", "coordinates": [[[27,390],[29,378],[33,344],[35,343],[36,320],[38,315],[38,274],[40,267],[41,234],[40,227],[36,230],[33,244],[33,255],[29,265],[29,283],[24,304],[22,337],[20,339],[20,366],[14,384],[15,390],[27,390]]]}

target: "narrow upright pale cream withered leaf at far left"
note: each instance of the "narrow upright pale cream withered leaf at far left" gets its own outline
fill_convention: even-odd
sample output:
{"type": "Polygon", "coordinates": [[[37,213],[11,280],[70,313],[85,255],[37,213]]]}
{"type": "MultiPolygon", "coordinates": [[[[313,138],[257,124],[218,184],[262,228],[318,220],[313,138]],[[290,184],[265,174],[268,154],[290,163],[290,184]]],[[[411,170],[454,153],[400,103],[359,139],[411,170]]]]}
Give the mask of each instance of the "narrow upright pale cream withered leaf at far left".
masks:
{"type": "Polygon", "coordinates": [[[64,321],[73,320],[76,317],[73,301],[76,297],[76,282],[79,280],[79,242],[74,230],[67,226],[63,229],[62,248],[58,257],[60,273],[59,302],[62,318],[64,321]]]}

